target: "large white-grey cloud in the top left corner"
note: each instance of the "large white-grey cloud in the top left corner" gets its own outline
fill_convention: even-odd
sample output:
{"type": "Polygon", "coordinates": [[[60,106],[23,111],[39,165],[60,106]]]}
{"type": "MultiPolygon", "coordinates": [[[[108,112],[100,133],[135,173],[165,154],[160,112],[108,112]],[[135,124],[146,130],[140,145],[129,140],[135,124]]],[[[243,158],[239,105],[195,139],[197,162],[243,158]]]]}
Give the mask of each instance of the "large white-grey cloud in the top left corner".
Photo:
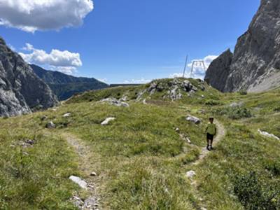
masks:
{"type": "Polygon", "coordinates": [[[34,32],[78,27],[92,0],[0,0],[0,25],[34,32]]]}

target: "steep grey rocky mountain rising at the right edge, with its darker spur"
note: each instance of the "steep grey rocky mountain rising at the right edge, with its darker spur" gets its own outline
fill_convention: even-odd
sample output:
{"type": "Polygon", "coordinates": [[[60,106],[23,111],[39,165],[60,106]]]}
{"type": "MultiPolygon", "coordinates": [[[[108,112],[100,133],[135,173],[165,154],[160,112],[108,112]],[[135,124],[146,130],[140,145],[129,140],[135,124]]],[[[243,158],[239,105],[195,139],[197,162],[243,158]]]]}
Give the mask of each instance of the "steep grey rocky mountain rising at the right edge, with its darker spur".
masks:
{"type": "Polygon", "coordinates": [[[280,85],[279,0],[261,1],[248,31],[238,38],[233,55],[226,52],[214,60],[206,78],[223,92],[261,92],[280,85]]]}

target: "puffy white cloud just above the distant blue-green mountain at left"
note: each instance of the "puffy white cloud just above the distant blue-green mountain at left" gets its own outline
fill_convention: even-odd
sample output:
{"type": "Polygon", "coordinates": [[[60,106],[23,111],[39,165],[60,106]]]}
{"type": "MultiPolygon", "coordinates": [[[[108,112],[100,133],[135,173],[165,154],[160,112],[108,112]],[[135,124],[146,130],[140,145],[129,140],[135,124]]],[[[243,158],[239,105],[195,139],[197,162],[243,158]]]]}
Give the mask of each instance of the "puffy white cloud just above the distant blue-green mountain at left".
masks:
{"type": "Polygon", "coordinates": [[[38,50],[33,45],[26,43],[22,48],[29,53],[19,52],[23,59],[30,64],[48,66],[52,70],[61,71],[71,74],[76,71],[77,67],[83,65],[80,60],[80,54],[69,52],[68,50],[51,50],[50,53],[45,50],[38,50]]]}

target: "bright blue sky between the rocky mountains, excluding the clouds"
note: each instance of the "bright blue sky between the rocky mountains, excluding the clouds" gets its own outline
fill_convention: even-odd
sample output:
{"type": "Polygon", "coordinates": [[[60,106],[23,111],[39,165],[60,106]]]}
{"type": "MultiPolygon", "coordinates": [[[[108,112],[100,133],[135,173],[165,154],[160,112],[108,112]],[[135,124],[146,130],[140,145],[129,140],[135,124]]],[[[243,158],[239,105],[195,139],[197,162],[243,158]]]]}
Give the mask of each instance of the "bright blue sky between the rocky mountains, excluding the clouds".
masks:
{"type": "MultiPolygon", "coordinates": [[[[74,3],[77,0],[70,1],[74,3]]],[[[259,4],[259,0],[95,0],[91,12],[83,13],[81,6],[81,13],[85,16],[83,24],[74,18],[72,20],[65,11],[66,18],[64,13],[55,17],[57,13],[51,13],[53,8],[41,5],[40,10],[45,13],[43,18],[29,17],[33,13],[27,18],[21,17],[22,10],[8,8],[10,10],[5,16],[0,13],[0,36],[15,50],[25,54],[34,52],[34,49],[43,50],[46,54],[57,49],[58,54],[54,55],[58,56],[62,56],[59,52],[64,50],[78,53],[79,58],[77,54],[64,53],[72,57],[70,66],[74,66],[71,71],[76,69],[73,71],[75,76],[106,79],[107,83],[137,83],[181,73],[186,54],[192,60],[219,55],[227,48],[233,50],[259,4]],[[10,14],[15,16],[10,17],[10,14]],[[31,20],[28,18],[33,22],[29,23],[31,20]],[[71,24],[67,23],[68,19],[71,24]],[[18,27],[15,23],[22,21],[30,26],[34,25],[34,20],[38,29],[32,28],[33,33],[29,27],[18,27]],[[26,43],[33,47],[25,47],[26,43]],[[25,50],[22,49],[24,47],[25,50]],[[78,64],[77,59],[80,59],[78,64]]],[[[57,9],[57,5],[54,6],[57,9]]],[[[64,8],[63,3],[60,6],[64,8]]],[[[71,6],[75,4],[69,3],[65,10],[71,10],[71,6]]],[[[88,4],[85,7],[88,8],[88,4]]],[[[57,62],[43,62],[39,64],[59,69],[57,62]]]]}

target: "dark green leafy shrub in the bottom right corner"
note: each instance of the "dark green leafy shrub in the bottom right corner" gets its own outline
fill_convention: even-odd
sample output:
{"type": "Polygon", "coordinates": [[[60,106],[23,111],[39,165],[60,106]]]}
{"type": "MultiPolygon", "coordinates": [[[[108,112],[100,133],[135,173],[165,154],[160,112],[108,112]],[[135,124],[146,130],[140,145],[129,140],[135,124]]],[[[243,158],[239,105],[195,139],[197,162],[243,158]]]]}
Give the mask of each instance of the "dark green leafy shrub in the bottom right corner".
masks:
{"type": "Polygon", "coordinates": [[[279,192],[277,192],[275,188],[263,186],[255,172],[250,172],[245,175],[236,175],[234,193],[245,209],[276,210],[279,207],[279,192]]]}

